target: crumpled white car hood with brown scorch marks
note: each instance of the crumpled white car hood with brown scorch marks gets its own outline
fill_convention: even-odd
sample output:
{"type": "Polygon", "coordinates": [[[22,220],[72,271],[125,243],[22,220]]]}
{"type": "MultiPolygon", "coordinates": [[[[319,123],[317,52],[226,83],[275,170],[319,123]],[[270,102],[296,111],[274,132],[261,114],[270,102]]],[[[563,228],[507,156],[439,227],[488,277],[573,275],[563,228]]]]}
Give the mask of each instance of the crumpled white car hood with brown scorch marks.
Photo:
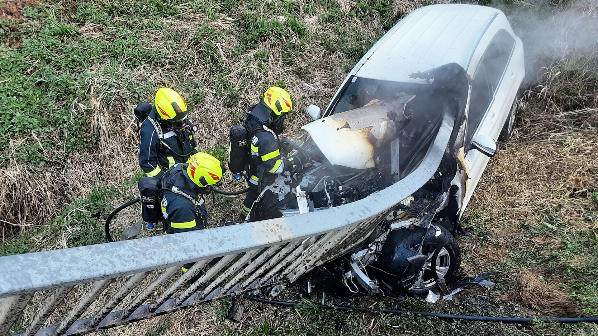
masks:
{"type": "Polygon", "coordinates": [[[415,96],[387,102],[373,100],[365,106],[333,114],[301,129],[309,133],[331,164],[355,169],[376,165],[376,149],[395,138],[407,123],[405,106],[415,96]]]}

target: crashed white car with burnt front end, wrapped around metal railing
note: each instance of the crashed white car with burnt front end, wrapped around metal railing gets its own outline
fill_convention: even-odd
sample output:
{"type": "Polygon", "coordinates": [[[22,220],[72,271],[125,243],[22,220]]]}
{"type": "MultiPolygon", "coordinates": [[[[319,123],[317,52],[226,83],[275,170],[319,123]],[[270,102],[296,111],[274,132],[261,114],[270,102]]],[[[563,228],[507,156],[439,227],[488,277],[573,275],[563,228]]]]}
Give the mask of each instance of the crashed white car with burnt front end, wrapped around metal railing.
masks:
{"type": "Polygon", "coordinates": [[[304,142],[283,143],[289,155],[303,151],[312,160],[270,188],[274,210],[258,201],[251,218],[324,210],[400,183],[447,131],[434,176],[396,200],[349,254],[308,276],[371,294],[446,289],[460,267],[454,235],[463,210],[496,141],[513,132],[524,75],[523,45],[501,11],[462,4],[413,11],[355,65],[323,117],[310,105],[315,121],[302,127],[304,142]]]}

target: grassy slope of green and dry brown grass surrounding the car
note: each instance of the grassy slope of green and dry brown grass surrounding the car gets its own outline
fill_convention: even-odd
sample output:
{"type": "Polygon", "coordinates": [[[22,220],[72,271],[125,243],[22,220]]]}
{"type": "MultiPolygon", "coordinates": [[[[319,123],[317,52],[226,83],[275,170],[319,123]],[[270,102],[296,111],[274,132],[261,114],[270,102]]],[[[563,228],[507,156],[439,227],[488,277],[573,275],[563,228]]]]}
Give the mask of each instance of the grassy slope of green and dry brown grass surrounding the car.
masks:
{"type": "MultiPolygon", "coordinates": [[[[0,96],[0,215],[43,225],[6,240],[0,255],[102,242],[103,219],[133,196],[139,176],[132,106],[150,100],[156,88],[181,91],[202,126],[202,146],[222,155],[228,127],[265,87],[276,84],[293,94],[300,106],[291,118],[296,130],[307,120],[305,106],[325,106],[361,54],[419,6],[381,0],[65,1],[35,4],[22,8],[22,18],[16,13],[14,20],[1,20],[9,44],[0,49],[0,91],[8,93],[0,96]]],[[[505,9],[512,19],[530,15],[520,5],[505,9]]],[[[533,14],[552,15],[542,7],[533,14]]],[[[523,35],[525,22],[515,23],[523,35]]],[[[530,86],[517,136],[474,194],[468,209],[474,243],[461,240],[465,273],[495,272],[498,286],[471,289],[451,303],[384,304],[496,316],[598,314],[595,54],[568,54],[560,63],[551,57],[558,61],[562,54],[538,55],[527,71],[543,86],[530,86]],[[545,64],[556,68],[539,68],[545,64]]],[[[234,198],[219,198],[216,219],[238,210],[234,198]]],[[[135,216],[130,210],[120,225],[135,216]]],[[[261,304],[249,304],[244,322],[233,324],[222,320],[226,305],[135,323],[119,333],[598,334],[591,325],[447,322],[261,304]]]]}

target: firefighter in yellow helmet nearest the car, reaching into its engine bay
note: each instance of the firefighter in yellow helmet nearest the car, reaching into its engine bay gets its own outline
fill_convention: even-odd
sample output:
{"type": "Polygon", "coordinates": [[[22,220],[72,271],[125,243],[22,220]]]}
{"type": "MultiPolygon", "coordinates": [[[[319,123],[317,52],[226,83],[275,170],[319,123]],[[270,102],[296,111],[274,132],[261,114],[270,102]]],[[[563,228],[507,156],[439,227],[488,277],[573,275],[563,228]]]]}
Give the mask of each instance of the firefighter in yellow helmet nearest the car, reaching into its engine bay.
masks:
{"type": "Polygon", "coordinates": [[[242,219],[248,215],[261,190],[274,182],[276,175],[294,169],[300,164],[295,162],[299,158],[285,158],[280,155],[278,135],[283,132],[285,118],[292,109],[291,95],[283,88],[274,86],[266,90],[263,99],[251,106],[245,115],[243,126],[249,133],[248,140],[251,143],[248,146],[249,192],[243,201],[242,219]]]}

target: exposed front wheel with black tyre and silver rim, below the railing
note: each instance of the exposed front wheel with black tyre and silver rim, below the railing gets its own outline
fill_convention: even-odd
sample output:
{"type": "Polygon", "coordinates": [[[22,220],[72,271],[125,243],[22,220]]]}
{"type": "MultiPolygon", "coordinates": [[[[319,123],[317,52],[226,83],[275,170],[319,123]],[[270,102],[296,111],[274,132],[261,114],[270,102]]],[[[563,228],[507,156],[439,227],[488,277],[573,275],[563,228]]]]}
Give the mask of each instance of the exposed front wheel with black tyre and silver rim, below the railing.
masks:
{"type": "Polygon", "coordinates": [[[413,295],[426,295],[429,290],[438,292],[437,280],[443,278],[450,288],[457,282],[461,267],[461,249],[449,230],[434,225],[428,230],[420,227],[407,227],[392,231],[382,249],[376,268],[384,283],[393,291],[407,292],[413,295]],[[419,285],[420,270],[407,261],[419,251],[429,256],[419,285]],[[432,271],[434,267],[437,272],[432,271]]]}

